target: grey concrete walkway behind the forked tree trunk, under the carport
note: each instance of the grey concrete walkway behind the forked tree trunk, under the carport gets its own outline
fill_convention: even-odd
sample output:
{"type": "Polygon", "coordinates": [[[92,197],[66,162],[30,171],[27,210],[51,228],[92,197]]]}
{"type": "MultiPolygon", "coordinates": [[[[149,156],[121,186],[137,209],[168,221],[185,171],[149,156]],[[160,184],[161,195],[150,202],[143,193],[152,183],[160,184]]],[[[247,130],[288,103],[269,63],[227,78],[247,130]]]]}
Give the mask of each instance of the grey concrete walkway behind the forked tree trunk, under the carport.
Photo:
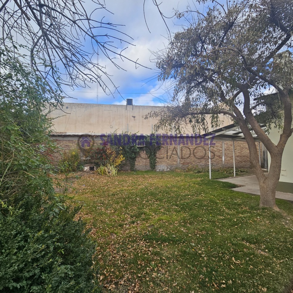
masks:
{"type": "MultiPolygon", "coordinates": [[[[266,175],[267,173],[265,173],[266,175]]],[[[235,191],[245,192],[249,194],[260,195],[258,180],[255,175],[246,175],[239,177],[230,177],[225,179],[218,179],[219,181],[226,181],[241,187],[233,188],[235,191]]],[[[293,201],[293,193],[276,192],[276,198],[293,201]]]]}

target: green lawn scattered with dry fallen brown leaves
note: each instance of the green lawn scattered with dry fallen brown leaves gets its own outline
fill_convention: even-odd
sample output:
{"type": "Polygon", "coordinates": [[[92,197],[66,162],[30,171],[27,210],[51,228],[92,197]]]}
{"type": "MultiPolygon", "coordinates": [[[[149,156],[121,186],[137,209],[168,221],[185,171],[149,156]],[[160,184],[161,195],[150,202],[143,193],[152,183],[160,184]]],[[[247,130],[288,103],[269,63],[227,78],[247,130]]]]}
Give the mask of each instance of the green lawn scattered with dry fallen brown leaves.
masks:
{"type": "Polygon", "coordinates": [[[257,196],[231,187],[184,172],[91,173],[74,182],[98,243],[101,288],[281,292],[293,276],[293,205],[259,208],[257,196]]]}

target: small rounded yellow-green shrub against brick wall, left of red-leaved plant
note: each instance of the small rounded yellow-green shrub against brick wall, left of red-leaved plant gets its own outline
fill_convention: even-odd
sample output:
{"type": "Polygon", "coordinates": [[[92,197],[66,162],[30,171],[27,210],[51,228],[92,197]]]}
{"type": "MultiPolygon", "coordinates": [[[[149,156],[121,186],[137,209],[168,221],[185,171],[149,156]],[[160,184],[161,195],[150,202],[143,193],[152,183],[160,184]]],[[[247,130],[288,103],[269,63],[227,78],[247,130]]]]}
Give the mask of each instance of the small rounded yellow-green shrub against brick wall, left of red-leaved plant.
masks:
{"type": "Polygon", "coordinates": [[[59,162],[61,172],[76,172],[83,170],[83,164],[80,159],[78,149],[66,152],[59,162]]]}

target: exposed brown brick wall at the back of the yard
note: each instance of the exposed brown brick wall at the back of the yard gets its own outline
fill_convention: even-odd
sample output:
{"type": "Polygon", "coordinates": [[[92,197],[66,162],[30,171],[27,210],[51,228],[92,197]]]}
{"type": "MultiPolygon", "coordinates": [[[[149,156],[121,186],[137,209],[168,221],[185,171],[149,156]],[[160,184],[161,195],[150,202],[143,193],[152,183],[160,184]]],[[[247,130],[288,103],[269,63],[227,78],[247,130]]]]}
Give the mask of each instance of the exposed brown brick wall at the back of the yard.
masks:
{"type": "MultiPolygon", "coordinates": [[[[52,161],[58,162],[62,153],[77,149],[78,136],[52,135],[52,139],[60,146],[60,152],[54,153],[52,161]]],[[[101,143],[101,138],[94,137],[95,144],[101,143]]],[[[188,166],[208,167],[209,151],[208,140],[198,139],[191,141],[182,138],[164,141],[157,153],[157,167],[187,168],[188,166]],[[180,141],[180,145],[178,141],[180,141]]],[[[249,150],[246,141],[234,141],[235,144],[235,166],[236,168],[250,168],[249,150]]],[[[258,149],[258,142],[256,142],[258,149]]],[[[262,155],[262,150],[261,150],[262,155]]],[[[262,158],[261,158],[262,160],[262,158]]],[[[212,167],[233,167],[233,142],[230,140],[214,139],[211,143],[211,164],[212,167]],[[224,154],[224,156],[223,156],[224,154]]],[[[135,167],[137,170],[149,170],[150,162],[146,152],[140,151],[135,167]]]]}

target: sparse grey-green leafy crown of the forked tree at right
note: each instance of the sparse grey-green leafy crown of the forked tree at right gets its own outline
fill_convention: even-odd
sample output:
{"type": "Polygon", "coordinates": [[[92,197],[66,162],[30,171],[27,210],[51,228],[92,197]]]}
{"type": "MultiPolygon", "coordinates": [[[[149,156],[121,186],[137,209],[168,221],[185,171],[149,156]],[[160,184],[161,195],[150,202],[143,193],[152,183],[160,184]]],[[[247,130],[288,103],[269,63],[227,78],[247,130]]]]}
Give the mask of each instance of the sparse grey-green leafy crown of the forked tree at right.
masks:
{"type": "Polygon", "coordinates": [[[267,130],[282,129],[283,118],[291,127],[293,2],[196,2],[206,6],[176,11],[184,21],[188,14],[190,24],[156,55],[159,80],[174,84],[171,105],[149,114],[160,118],[156,127],[181,133],[188,122],[194,133],[206,133],[207,114],[213,128],[223,120],[219,114],[242,128],[257,129],[256,119],[267,130]]]}

